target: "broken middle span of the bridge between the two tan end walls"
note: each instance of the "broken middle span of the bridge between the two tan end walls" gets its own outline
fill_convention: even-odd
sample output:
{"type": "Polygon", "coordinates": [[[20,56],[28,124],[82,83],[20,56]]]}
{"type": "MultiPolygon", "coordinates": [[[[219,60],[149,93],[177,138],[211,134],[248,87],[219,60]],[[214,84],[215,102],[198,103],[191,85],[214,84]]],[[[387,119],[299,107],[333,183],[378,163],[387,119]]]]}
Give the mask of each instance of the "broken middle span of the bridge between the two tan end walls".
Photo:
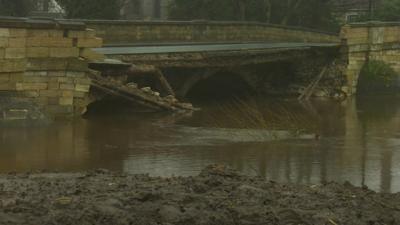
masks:
{"type": "MultiPolygon", "coordinates": [[[[83,22],[104,40],[98,53],[158,68],[181,99],[194,89],[202,96],[224,94],[213,93],[213,86],[238,94],[246,87],[271,93],[298,82],[308,85],[310,77],[339,53],[340,45],[335,34],[262,23],[83,22]],[[203,88],[198,87],[201,83],[203,88]]],[[[130,81],[145,74],[136,73],[130,81]]],[[[143,85],[160,91],[154,83],[143,85]]]]}

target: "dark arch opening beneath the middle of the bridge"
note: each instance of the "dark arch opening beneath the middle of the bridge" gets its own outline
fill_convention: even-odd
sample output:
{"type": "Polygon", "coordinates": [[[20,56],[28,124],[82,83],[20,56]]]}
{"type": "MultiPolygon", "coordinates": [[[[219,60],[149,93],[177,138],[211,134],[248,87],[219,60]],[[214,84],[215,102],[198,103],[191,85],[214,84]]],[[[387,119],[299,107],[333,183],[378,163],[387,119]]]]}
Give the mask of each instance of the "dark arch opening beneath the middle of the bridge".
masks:
{"type": "Polygon", "coordinates": [[[194,83],[184,97],[192,102],[205,102],[250,96],[255,92],[240,74],[222,71],[194,83]]]}

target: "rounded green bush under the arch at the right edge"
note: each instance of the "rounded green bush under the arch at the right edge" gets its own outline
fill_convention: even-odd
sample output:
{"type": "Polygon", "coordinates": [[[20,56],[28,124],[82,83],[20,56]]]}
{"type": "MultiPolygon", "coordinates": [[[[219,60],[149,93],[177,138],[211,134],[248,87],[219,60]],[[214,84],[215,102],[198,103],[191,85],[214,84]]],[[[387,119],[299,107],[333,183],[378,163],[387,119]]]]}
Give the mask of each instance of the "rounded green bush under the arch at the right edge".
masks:
{"type": "Polygon", "coordinates": [[[364,65],[360,73],[359,89],[371,90],[393,87],[398,74],[383,61],[371,60],[364,65]]]}

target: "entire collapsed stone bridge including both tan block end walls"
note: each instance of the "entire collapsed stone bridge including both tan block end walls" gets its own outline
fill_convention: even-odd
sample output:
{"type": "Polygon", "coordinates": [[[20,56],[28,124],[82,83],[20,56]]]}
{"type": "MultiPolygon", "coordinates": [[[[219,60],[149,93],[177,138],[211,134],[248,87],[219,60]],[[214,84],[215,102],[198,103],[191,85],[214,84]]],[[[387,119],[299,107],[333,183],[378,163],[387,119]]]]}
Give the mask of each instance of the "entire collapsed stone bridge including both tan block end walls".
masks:
{"type": "MultiPolygon", "coordinates": [[[[267,93],[293,88],[298,93],[311,82],[313,88],[325,88],[315,95],[351,95],[369,59],[385,61],[400,72],[397,23],[347,25],[340,36],[207,21],[2,18],[0,27],[1,97],[32,102],[55,115],[84,111],[94,100],[90,90],[96,85],[107,94],[122,91],[125,98],[139,97],[142,103],[165,109],[171,108],[174,96],[200,91],[215,97],[212,87],[234,94],[243,88],[267,93]],[[93,76],[93,65],[102,74],[93,76]],[[322,80],[321,71],[328,71],[322,80]],[[96,77],[104,80],[94,83],[96,77]],[[106,87],[121,84],[126,85],[106,87]]],[[[176,107],[190,108],[172,108],[176,107]]]]}

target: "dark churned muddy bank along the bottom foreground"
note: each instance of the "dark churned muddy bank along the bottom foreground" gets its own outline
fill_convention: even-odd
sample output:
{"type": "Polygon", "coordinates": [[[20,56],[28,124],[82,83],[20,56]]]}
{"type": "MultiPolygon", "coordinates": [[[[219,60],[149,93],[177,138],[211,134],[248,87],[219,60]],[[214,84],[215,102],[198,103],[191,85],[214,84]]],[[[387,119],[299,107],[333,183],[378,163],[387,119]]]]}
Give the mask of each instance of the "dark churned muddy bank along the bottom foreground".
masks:
{"type": "Polygon", "coordinates": [[[281,185],[209,166],[196,177],[0,175],[0,224],[400,224],[400,195],[281,185]]]}

